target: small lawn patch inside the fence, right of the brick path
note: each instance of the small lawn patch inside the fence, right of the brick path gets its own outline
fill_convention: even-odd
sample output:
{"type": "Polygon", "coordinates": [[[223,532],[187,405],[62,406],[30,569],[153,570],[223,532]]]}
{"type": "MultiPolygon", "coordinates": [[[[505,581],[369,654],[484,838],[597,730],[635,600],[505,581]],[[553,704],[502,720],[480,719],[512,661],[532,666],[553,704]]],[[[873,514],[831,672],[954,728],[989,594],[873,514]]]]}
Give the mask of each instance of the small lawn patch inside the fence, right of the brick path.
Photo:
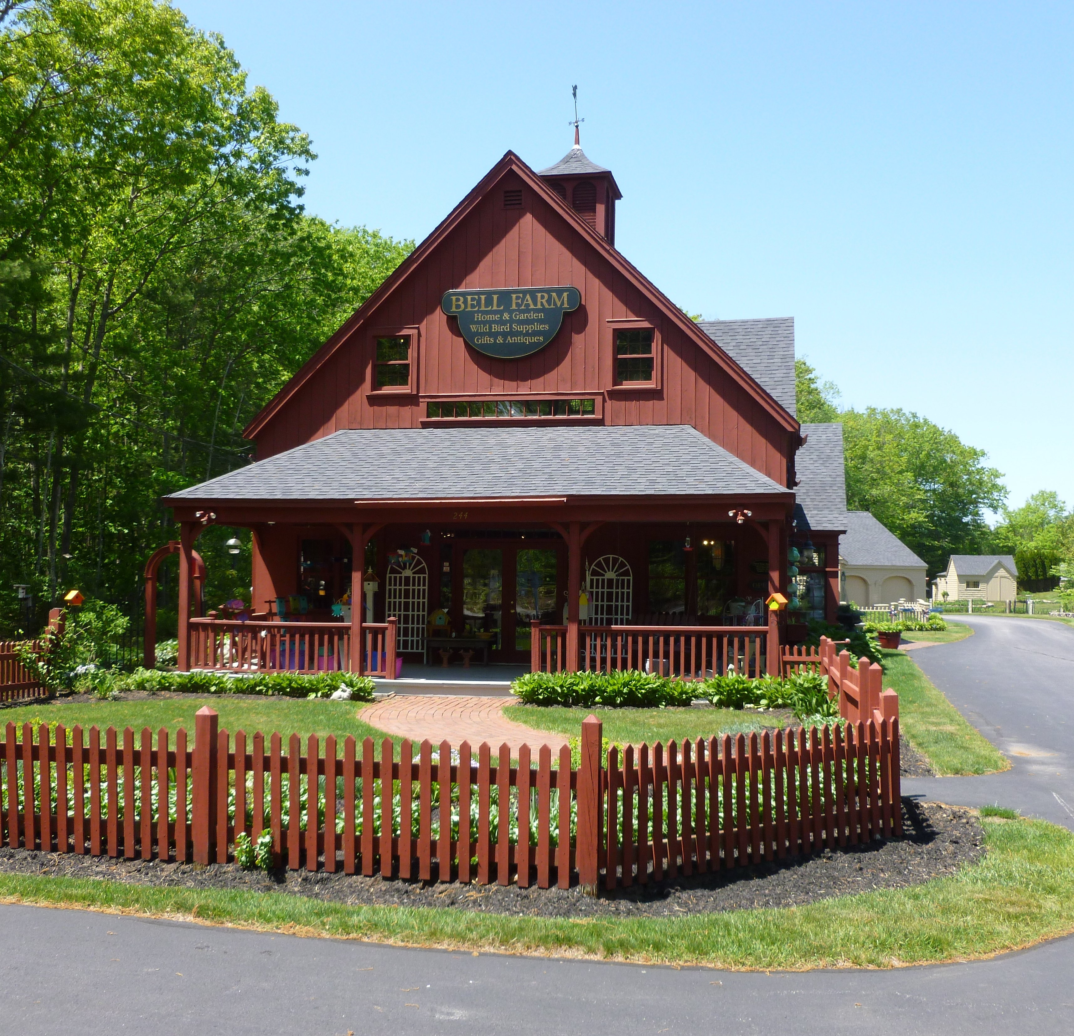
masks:
{"type": "Polygon", "coordinates": [[[749,732],[781,726],[764,713],[738,709],[568,709],[558,705],[508,705],[504,716],[516,723],[579,738],[582,720],[590,714],[604,724],[604,736],[616,745],[682,741],[714,734],[749,732]]]}

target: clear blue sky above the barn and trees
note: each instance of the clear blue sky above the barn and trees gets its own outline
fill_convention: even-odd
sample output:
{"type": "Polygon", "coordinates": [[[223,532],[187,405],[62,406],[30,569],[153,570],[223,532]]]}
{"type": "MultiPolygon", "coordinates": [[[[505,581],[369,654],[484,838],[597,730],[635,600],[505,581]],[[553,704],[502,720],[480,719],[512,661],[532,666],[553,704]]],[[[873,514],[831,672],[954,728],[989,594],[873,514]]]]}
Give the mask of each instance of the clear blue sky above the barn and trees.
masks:
{"type": "Polygon", "coordinates": [[[1074,505],[1071,3],[178,0],[319,155],[309,211],[424,237],[511,148],[623,190],[620,249],[708,318],[796,318],[845,405],[1074,505]]]}

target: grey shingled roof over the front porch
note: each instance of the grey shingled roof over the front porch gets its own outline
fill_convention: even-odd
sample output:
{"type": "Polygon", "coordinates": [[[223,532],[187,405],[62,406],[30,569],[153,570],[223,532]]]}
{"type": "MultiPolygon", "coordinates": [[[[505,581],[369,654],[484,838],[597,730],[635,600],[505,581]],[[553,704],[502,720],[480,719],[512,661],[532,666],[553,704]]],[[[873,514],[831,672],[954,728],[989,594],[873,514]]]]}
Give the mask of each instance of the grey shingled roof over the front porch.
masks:
{"type": "Polygon", "coordinates": [[[690,425],[351,428],[164,502],[789,496],[690,425]]]}

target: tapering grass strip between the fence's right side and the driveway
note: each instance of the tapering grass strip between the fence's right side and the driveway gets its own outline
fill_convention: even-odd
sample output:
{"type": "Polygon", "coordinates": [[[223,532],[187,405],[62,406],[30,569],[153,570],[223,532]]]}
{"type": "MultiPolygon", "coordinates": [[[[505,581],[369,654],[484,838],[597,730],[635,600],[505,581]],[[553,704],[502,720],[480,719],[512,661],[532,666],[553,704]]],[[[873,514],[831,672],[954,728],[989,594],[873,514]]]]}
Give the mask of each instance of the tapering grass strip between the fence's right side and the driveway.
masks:
{"type": "Polygon", "coordinates": [[[899,726],[941,776],[995,773],[1011,763],[917,668],[913,657],[885,651],[884,686],[899,695],[899,726]]]}

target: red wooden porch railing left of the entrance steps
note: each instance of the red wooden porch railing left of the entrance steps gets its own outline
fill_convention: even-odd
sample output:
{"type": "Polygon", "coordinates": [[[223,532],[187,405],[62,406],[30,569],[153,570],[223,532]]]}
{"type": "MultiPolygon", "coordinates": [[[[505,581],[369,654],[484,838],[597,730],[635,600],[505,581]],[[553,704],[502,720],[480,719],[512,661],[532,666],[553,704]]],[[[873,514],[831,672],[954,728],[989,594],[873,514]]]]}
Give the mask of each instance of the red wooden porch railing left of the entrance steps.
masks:
{"type": "Polygon", "coordinates": [[[395,619],[363,623],[362,657],[350,623],[190,619],[190,668],[231,672],[363,672],[395,677],[395,619]]]}

